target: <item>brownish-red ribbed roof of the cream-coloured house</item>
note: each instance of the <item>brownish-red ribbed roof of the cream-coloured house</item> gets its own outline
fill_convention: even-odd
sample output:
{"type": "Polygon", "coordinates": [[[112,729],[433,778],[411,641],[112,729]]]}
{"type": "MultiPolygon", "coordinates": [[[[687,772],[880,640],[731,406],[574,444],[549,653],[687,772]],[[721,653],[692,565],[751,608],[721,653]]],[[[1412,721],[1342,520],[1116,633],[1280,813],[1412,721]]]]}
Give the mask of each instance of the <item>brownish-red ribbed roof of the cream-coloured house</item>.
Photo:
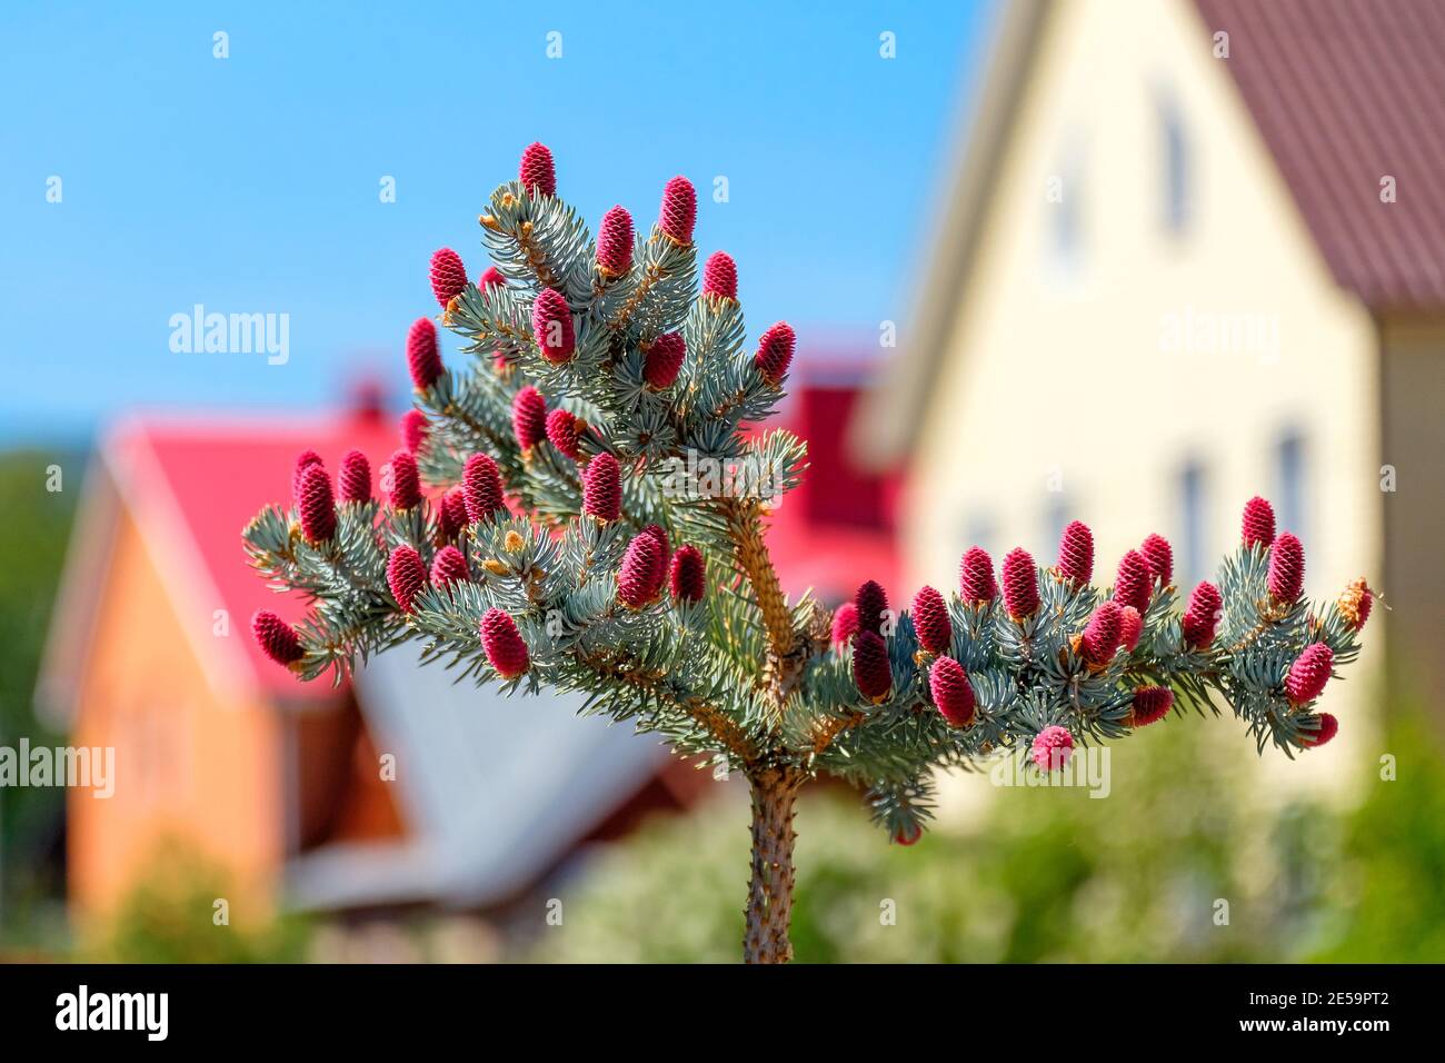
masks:
{"type": "Polygon", "coordinates": [[[1445,307],[1445,4],[1195,3],[1335,279],[1373,309],[1445,307]]]}

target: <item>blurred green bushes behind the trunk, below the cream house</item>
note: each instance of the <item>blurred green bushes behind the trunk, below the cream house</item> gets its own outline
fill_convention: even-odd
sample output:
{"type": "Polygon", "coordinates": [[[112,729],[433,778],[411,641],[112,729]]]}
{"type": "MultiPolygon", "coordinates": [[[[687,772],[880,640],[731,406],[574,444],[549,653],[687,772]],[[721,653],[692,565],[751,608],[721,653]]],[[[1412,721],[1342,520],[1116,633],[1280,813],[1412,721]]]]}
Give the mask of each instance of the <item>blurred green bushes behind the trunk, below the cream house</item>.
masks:
{"type": "MultiPolygon", "coordinates": [[[[1348,813],[1260,806],[1240,742],[1201,722],[1113,751],[1107,798],[1000,788],[967,829],[880,846],[835,790],[798,819],[802,962],[1445,960],[1445,756],[1406,722],[1400,778],[1348,813]],[[1208,738],[1209,740],[1201,740],[1208,738]],[[1217,923],[1218,898],[1230,901],[1217,923]],[[880,921],[884,900],[896,923],[880,921]]],[[[1370,765],[1363,765],[1370,769],[1370,765]]],[[[548,962],[731,962],[747,832],[740,794],[655,820],[561,892],[548,962]]]]}

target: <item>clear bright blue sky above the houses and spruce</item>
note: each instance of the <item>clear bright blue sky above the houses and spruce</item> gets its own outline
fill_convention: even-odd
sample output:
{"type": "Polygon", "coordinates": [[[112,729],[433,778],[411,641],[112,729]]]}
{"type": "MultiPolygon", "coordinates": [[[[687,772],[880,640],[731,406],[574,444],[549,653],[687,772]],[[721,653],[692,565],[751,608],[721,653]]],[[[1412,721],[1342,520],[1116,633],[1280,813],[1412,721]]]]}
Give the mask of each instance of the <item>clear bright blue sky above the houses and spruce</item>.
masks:
{"type": "Polygon", "coordinates": [[[691,176],[698,242],[738,260],[753,336],[786,318],[805,354],[873,344],[909,305],[991,16],[988,0],[4,4],[0,440],[133,408],[314,406],[364,370],[400,399],[406,325],[435,311],[431,252],[481,270],[477,214],[532,140],[594,226],[614,202],[649,226],[663,182],[691,176]],[[173,353],[169,318],[198,302],[289,314],[289,362],[173,353]]]}

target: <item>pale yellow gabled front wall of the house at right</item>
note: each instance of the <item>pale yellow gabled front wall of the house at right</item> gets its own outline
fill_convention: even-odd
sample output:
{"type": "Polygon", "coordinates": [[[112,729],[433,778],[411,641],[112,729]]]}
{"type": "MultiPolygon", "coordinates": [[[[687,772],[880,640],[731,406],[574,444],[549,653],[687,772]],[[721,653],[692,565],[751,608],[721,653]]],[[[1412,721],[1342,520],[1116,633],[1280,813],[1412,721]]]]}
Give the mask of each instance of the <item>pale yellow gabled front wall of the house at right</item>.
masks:
{"type": "MultiPolygon", "coordinates": [[[[996,563],[1025,545],[1051,564],[1055,487],[1094,528],[1097,579],[1108,583],[1147,532],[1179,541],[1178,477],[1191,460],[1205,470],[1212,576],[1237,542],[1243,502],[1276,492],[1286,428],[1305,440],[1308,593],[1334,597],[1379,574],[1374,325],[1332,283],[1208,45],[1192,4],[1055,6],[912,458],[902,509],[912,586],[957,586],[980,519],[996,563]],[[1178,234],[1163,223],[1162,95],[1188,142],[1178,234]],[[1072,260],[1055,253],[1051,178],[1078,204],[1072,260]],[[1259,315],[1277,328],[1277,351],[1168,349],[1169,321],[1189,312],[1259,315]]],[[[1329,693],[1340,738],[1289,771],[1267,752],[1272,777],[1340,790],[1347,758],[1376,740],[1367,701],[1379,649],[1373,638],[1329,693]]],[[[1220,726],[1253,759],[1243,727],[1220,726]]]]}

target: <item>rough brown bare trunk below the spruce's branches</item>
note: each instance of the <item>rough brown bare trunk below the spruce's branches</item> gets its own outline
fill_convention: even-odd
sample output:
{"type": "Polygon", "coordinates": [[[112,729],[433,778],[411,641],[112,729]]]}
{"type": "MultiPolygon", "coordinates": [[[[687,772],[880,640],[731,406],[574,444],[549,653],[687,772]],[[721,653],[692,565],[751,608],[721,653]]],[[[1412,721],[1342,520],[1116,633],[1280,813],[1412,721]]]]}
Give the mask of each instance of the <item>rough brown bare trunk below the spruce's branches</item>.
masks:
{"type": "Polygon", "coordinates": [[[753,791],[753,879],[747,891],[743,959],[788,963],[793,944],[788,921],[793,911],[793,798],[802,777],[786,768],[749,775],[753,791]]]}

